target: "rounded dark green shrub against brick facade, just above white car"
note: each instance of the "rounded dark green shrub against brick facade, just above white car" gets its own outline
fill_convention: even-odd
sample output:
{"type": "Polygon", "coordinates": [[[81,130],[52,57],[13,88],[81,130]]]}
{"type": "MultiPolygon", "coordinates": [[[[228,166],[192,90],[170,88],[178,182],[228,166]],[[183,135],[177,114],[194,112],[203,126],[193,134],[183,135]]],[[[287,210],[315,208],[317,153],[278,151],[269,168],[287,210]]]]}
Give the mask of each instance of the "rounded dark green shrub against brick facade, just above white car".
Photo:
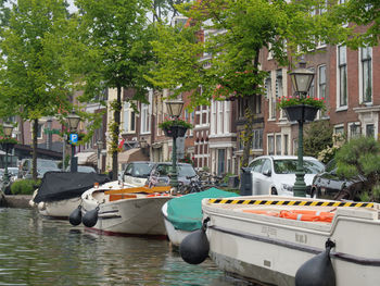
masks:
{"type": "Polygon", "coordinates": [[[315,121],[308,124],[304,135],[304,154],[317,158],[320,151],[332,146],[332,132],[328,121],[315,121]]]}

